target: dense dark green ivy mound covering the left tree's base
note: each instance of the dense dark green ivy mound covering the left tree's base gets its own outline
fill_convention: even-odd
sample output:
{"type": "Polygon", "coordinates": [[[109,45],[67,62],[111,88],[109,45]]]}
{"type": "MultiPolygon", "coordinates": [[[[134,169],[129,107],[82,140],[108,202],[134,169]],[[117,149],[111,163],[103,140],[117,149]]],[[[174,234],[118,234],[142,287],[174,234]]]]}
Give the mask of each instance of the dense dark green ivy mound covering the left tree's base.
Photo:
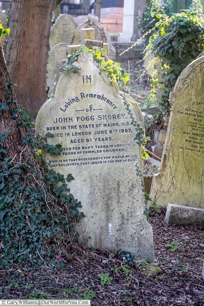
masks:
{"type": "Polygon", "coordinates": [[[59,265],[58,256],[69,257],[72,242],[77,239],[75,224],[84,214],[79,212],[81,202],[74,199],[67,185],[73,180],[50,170],[44,165],[41,154],[34,148],[57,155],[61,146],[50,146],[44,139],[36,142],[31,133],[32,117],[11,100],[13,84],[8,82],[6,101],[0,104],[2,113],[9,111],[26,135],[21,138],[21,154],[30,148],[25,162],[7,157],[4,142],[12,130],[0,134],[0,265],[12,269],[26,263],[27,269],[35,269],[46,263],[59,265]],[[13,107],[14,104],[14,107],[13,107]],[[12,107],[11,107],[12,106],[12,107]]]}

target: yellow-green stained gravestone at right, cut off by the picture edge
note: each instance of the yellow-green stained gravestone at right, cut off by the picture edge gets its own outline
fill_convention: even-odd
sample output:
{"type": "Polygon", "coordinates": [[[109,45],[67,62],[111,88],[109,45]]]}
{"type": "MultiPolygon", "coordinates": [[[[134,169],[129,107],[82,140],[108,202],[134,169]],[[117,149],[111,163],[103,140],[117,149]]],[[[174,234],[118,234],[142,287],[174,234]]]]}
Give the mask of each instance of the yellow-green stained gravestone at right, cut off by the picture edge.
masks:
{"type": "Polygon", "coordinates": [[[204,208],[204,57],[180,74],[169,101],[161,166],[150,197],[161,207],[172,203],[204,208]]]}

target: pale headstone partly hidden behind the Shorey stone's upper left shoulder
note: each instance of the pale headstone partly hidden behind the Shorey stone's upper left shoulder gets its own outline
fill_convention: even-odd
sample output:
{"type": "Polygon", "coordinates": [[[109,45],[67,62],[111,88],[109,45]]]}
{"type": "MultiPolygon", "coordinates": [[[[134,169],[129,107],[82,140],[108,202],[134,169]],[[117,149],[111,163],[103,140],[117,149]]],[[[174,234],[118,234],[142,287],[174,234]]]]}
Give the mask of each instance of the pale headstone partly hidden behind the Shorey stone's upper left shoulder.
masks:
{"type": "Polygon", "coordinates": [[[61,62],[66,58],[66,47],[66,43],[58,43],[49,52],[47,60],[47,87],[49,87],[49,92],[52,91],[53,84],[59,80],[61,62]]]}

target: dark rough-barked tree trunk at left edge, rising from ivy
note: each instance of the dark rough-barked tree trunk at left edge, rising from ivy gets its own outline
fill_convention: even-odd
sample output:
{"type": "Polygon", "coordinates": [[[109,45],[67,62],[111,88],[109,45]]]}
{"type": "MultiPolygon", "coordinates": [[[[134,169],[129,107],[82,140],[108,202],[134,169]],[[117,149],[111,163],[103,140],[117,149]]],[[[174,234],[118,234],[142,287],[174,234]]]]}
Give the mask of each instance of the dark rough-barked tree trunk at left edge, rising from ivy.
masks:
{"type": "MultiPolygon", "coordinates": [[[[29,154],[30,147],[20,146],[21,137],[25,137],[26,131],[24,127],[19,125],[21,119],[20,115],[17,114],[19,105],[12,86],[0,39],[0,134],[6,137],[5,140],[1,139],[0,147],[7,152],[3,151],[1,155],[14,158],[14,161],[21,160],[21,162],[24,162],[29,154]],[[16,113],[14,118],[11,118],[12,112],[16,113]],[[10,133],[8,133],[9,130],[11,130],[10,133]]],[[[2,135],[0,136],[2,137],[2,135]]]]}

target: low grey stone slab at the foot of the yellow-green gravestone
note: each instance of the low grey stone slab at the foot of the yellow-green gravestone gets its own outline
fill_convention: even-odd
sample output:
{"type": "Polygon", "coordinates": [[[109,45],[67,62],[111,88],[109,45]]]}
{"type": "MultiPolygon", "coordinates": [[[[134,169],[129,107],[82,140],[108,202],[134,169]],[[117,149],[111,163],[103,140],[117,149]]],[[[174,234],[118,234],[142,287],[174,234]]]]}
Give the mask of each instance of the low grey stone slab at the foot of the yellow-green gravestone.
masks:
{"type": "Polygon", "coordinates": [[[204,208],[168,204],[165,222],[169,225],[204,224],[204,208]]]}

